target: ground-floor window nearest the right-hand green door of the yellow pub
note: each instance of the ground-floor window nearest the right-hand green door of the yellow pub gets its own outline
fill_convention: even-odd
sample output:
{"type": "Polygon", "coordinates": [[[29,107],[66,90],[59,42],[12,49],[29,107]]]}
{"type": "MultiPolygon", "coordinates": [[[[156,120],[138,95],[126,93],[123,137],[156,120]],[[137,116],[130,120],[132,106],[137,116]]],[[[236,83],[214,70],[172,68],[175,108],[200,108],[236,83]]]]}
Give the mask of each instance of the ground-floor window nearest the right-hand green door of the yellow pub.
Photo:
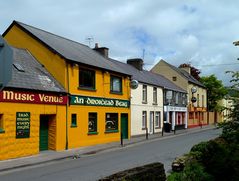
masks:
{"type": "Polygon", "coordinates": [[[118,132],[118,113],[106,113],[106,132],[118,132]]]}

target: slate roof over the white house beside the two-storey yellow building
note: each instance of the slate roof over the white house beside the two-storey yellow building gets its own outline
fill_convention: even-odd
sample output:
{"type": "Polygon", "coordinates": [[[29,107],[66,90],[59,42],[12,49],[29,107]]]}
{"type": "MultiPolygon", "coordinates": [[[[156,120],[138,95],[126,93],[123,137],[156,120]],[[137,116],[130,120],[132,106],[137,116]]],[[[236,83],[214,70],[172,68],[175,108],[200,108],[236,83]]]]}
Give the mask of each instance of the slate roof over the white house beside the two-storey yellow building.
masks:
{"type": "Polygon", "coordinates": [[[159,75],[147,70],[140,71],[136,69],[135,67],[133,67],[132,65],[119,62],[114,59],[110,59],[110,61],[117,64],[121,69],[124,69],[125,71],[127,71],[132,76],[132,79],[135,79],[141,83],[150,84],[153,86],[158,86],[158,87],[162,87],[169,90],[187,93],[185,90],[178,87],[177,85],[175,85],[174,83],[172,83],[170,80],[168,80],[162,75],[159,75]]]}

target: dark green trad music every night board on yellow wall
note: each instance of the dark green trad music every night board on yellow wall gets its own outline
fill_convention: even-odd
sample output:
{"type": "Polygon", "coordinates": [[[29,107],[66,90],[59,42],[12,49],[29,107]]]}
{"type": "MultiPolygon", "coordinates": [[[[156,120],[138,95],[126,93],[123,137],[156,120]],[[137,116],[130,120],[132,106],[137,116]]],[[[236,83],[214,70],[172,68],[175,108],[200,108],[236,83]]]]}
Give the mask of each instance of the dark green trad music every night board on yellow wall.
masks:
{"type": "Polygon", "coordinates": [[[30,112],[16,113],[16,138],[30,137],[30,112]]]}

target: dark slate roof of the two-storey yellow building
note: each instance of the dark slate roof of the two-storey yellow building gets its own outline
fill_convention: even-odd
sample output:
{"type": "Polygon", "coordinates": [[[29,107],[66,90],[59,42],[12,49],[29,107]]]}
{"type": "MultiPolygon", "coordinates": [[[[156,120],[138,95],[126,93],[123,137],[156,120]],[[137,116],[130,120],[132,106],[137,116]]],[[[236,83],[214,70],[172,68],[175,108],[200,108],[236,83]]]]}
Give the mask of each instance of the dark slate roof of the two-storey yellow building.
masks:
{"type": "Polygon", "coordinates": [[[35,28],[33,26],[26,25],[18,21],[13,21],[10,27],[3,33],[3,36],[10,30],[13,25],[20,27],[23,31],[27,32],[33,38],[37,39],[45,46],[47,46],[51,51],[60,55],[68,61],[73,61],[84,65],[90,65],[93,67],[98,67],[101,69],[128,75],[126,71],[118,68],[114,63],[109,62],[108,59],[86,45],[35,28]]]}

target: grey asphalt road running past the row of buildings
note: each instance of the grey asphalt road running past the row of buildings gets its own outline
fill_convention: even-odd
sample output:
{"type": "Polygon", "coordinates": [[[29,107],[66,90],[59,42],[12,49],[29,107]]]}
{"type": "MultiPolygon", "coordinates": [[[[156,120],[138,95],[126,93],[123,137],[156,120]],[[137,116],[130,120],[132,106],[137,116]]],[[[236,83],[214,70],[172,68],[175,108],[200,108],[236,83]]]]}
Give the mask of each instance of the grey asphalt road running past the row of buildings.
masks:
{"type": "Polygon", "coordinates": [[[65,159],[33,167],[0,173],[1,181],[87,181],[97,180],[118,171],[152,162],[164,163],[171,169],[175,157],[187,153],[201,142],[217,137],[220,130],[212,129],[187,135],[149,140],[123,148],[107,150],[78,159],[65,159]]]}

